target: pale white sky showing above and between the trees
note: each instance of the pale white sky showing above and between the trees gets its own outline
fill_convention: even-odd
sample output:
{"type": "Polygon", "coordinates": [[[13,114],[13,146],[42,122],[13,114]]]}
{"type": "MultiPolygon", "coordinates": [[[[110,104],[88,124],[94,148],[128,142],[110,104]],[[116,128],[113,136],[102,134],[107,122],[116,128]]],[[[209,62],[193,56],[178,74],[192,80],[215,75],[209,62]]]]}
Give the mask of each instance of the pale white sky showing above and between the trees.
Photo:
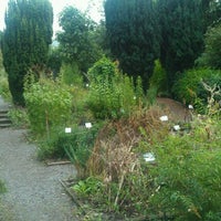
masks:
{"type": "MultiPolygon", "coordinates": [[[[0,0],[1,7],[0,7],[0,30],[4,29],[4,12],[8,4],[8,0],[0,0]]],[[[50,0],[53,7],[54,11],[54,32],[59,31],[59,23],[57,18],[59,13],[62,11],[62,9],[66,6],[73,6],[80,9],[82,12],[90,9],[90,14],[93,20],[98,22],[102,18],[101,15],[101,9],[103,6],[103,0],[50,0]]]]}

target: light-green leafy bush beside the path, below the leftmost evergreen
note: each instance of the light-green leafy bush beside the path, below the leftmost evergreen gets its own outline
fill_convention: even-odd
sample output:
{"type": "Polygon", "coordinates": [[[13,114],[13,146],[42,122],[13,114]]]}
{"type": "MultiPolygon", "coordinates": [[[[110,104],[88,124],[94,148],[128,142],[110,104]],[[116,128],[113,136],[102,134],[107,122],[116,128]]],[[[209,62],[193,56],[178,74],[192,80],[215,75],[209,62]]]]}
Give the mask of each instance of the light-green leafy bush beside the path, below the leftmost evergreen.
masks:
{"type": "Polygon", "coordinates": [[[53,127],[63,126],[71,118],[72,95],[60,80],[34,82],[29,75],[24,91],[31,129],[36,135],[50,135],[53,127]]]}

